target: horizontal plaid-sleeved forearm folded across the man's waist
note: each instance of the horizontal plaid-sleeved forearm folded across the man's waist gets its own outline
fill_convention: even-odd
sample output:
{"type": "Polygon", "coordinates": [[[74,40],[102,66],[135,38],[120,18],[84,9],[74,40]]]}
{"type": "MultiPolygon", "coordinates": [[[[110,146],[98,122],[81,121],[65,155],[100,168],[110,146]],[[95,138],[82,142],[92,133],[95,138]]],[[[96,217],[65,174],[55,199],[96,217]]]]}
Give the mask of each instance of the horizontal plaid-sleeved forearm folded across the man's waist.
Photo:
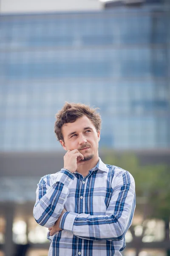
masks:
{"type": "Polygon", "coordinates": [[[131,211],[124,211],[120,216],[65,212],[59,227],[83,239],[121,240],[130,227],[135,202],[134,197],[131,211]]]}

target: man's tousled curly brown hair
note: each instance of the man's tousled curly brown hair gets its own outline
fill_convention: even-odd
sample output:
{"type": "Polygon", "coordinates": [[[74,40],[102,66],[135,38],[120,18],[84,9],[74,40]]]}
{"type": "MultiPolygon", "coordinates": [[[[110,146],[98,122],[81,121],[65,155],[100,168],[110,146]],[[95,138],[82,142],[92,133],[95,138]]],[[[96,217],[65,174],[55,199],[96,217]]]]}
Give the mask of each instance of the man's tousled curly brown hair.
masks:
{"type": "Polygon", "coordinates": [[[56,114],[56,121],[54,125],[54,132],[56,134],[57,140],[64,141],[62,135],[62,125],[66,123],[75,122],[77,118],[82,116],[87,116],[91,122],[94,124],[96,131],[101,129],[101,116],[96,112],[98,108],[90,108],[88,105],[82,103],[69,103],[65,102],[63,108],[56,114]]]}

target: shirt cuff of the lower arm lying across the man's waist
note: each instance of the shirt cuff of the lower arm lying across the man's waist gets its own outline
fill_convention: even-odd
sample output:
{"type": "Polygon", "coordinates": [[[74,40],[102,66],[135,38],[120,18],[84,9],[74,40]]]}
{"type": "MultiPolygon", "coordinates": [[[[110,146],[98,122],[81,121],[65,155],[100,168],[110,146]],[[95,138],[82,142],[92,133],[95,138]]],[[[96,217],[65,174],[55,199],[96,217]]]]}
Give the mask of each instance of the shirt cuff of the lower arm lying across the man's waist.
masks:
{"type": "Polygon", "coordinates": [[[66,230],[70,233],[73,233],[73,225],[74,225],[74,220],[79,215],[76,212],[64,212],[61,220],[59,222],[59,227],[62,230],[66,230]]]}

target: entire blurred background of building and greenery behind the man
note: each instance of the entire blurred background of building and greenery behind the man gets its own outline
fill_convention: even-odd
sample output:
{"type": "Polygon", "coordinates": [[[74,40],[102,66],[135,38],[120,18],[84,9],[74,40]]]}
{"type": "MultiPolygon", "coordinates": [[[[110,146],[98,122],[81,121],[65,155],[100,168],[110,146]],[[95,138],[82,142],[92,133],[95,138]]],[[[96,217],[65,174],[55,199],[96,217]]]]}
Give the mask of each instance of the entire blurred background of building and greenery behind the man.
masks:
{"type": "Polygon", "coordinates": [[[0,0],[0,256],[48,255],[32,210],[65,101],[100,108],[99,155],[135,178],[123,256],[170,256],[170,1],[0,0]]]}

